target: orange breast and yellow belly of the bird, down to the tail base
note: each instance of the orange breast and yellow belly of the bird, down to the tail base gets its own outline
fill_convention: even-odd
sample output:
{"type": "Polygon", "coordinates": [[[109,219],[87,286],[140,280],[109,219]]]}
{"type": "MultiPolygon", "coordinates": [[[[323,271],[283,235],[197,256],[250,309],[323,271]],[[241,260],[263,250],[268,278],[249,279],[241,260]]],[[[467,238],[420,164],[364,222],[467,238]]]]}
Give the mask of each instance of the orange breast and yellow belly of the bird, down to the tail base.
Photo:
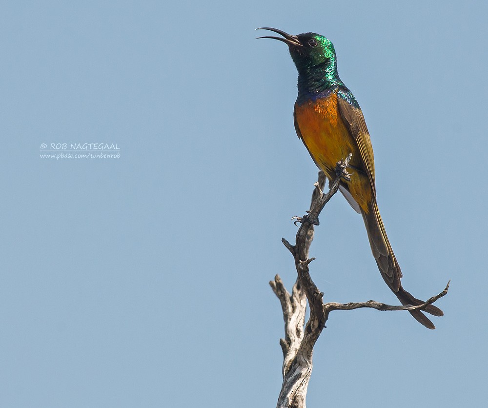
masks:
{"type": "MultiPolygon", "coordinates": [[[[356,140],[340,116],[336,92],[327,98],[295,104],[295,117],[305,146],[329,179],[335,178],[336,163],[349,153],[352,153],[351,164],[362,167],[356,140]]],[[[372,189],[367,177],[356,172],[347,186],[354,200],[368,212],[372,189]]]]}

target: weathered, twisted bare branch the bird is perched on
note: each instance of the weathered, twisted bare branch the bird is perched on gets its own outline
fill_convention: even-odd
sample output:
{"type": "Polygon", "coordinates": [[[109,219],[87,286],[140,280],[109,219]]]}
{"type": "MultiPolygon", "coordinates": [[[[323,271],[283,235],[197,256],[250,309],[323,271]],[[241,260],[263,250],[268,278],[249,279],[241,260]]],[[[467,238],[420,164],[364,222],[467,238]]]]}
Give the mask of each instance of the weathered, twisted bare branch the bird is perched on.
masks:
{"type": "Polygon", "coordinates": [[[310,244],[314,236],[314,225],[319,225],[319,214],[325,204],[332,198],[339,188],[341,178],[350,180],[350,174],[346,168],[352,155],[344,161],[338,162],[336,167],[337,177],[329,184],[329,191],[324,194],[326,177],[320,171],[319,179],[315,183],[312,194],[310,210],[304,217],[293,217],[296,223],[300,223],[295,238],[295,245],[291,245],[285,238],[283,244],[288,248],[295,259],[298,278],[290,294],[279,275],[269,284],[281,302],[283,318],[285,320],[285,338],[280,340],[283,349],[283,385],[278,397],[278,408],[305,408],[305,398],[308,388],[308,381],[312,372],[313,347],[320,336],[328,315],[332,310],[353,310],[362,307],[374,308],[377,310],[424,310],[427,305],[437,301],[447,294],[449,283],[446,288],[436,296],[431,297],[427,302],[419,306],[390,306],[384,303],[367,301],[361,303],[325,303],[321,292],[312,281],[308,265],[315,258],[308,258],[310,244]],[[310,307],[310,316],[306,322],[306,302],[310,307]]]}

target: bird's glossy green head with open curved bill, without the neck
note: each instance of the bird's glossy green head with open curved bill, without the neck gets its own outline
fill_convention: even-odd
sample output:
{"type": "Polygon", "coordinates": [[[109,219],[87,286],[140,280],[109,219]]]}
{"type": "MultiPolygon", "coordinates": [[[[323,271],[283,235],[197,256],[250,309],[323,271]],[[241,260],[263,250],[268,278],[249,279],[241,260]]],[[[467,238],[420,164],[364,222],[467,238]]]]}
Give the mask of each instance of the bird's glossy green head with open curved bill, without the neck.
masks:
{"type": "Polygon", "coordinates": [[[299,74],[315,68],[323,70],[332,68],[335,71],[336,53],[334,44],[324,36],[316,33],[304,33],[292,36],[276,28],[261,27],[258,30],[269,30],[282,37],[264,36],[258,38],[272,38],[285,42],[290,50],[291,58],[299,74]]]}

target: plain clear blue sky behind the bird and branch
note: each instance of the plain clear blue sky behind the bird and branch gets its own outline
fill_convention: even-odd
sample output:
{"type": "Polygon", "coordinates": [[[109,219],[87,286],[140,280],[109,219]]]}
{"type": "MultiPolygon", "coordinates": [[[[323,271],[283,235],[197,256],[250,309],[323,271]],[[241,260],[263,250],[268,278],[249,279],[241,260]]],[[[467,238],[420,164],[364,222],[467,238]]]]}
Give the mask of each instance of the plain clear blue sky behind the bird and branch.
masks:
{"type": "MultiPolygon", "coordinates": [[[[284,335],[268,281],[317,169],[296,71],[256,27],[334,42],[365,114],[378,203],[427,330],[336,311],[309,407],[485,404],[488,55],[482,1],[3,2],[0,405],[273,407],[284,335]],[[117,143],[46,159],[41,144],[117,143]]],[[[397,304],[339,195],[311,248],[325,300],[397,304]]]]}

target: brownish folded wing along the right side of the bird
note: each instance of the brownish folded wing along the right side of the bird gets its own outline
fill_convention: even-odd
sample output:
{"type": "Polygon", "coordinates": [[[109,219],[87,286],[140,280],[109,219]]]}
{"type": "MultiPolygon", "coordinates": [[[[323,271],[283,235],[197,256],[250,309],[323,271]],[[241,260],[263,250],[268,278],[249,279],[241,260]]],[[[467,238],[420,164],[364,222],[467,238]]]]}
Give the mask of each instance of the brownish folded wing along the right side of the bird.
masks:
{"type": "Polygon", "coordinates": [[[371,183],[371,187],[373,188],[373,193],[376,196],[373,146],[371,146],[371,139],[369,138],[369,132],[367,130],[363,112],[359,107],[352,106],[342,98],[337,98],[337,101],[344,124],[358,145],[361,153],[361,161],[364,164],[364,169],[371,183]]]}

